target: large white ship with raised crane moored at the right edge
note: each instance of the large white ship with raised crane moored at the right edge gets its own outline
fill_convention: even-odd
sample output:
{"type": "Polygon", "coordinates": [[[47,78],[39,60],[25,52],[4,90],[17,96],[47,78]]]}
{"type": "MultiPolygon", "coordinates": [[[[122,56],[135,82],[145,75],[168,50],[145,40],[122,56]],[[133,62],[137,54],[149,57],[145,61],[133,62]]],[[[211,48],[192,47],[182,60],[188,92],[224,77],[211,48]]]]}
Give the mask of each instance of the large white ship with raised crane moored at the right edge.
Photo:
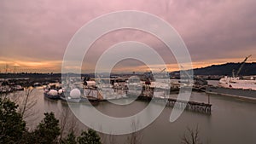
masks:
{"type": "Polygon", "coordinates": [[[232,77],[224,76],[220,78],[218,86],[207,86],[206,92],[214,95],[227,95],[237,98],[256,100],[256,79],[251,77],[249,79],[240,78],[239,72],[244,66],[245,62],[251,55],[247,56],[241,62],[241,66],[235,74],[233,70],[232,77]]]}

